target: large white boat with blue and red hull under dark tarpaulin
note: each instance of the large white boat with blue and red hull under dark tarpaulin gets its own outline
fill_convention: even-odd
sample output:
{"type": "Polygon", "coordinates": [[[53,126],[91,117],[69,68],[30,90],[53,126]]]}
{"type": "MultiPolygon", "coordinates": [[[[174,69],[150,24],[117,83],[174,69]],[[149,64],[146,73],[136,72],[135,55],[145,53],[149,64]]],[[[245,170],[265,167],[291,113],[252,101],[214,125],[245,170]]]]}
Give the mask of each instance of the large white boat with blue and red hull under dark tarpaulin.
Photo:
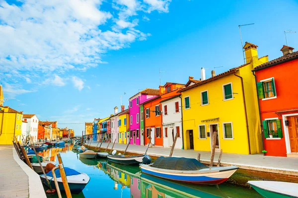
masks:
{"type": "Polygon", "coordinates": [[[237,166],[208,167],[196,159],[158,157],[153,164],[141,164],[142,173],[192,184],[217,185],[232,176],[237,166]]]}

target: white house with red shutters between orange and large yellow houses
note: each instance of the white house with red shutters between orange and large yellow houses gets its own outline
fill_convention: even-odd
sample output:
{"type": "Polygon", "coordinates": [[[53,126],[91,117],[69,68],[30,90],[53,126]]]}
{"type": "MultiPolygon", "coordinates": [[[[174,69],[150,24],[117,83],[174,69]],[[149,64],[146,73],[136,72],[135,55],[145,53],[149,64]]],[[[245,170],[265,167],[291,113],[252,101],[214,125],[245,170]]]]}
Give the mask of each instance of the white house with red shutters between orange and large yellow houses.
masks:
{"type": "Polygon", "coordinates": [[[172,147],[177,132],[175,148],[183,148],[181,98],[176,95],[160,101],[162,108],[163,147],[172,147]]]}

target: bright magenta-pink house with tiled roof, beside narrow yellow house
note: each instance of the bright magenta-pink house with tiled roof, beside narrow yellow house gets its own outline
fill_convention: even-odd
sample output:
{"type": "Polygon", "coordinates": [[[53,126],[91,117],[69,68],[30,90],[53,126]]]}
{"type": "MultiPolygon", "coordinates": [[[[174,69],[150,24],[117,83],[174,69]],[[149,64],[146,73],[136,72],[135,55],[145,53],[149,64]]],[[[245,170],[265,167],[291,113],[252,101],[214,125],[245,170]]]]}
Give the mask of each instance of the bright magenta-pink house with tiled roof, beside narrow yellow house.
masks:
{"type": "Polygon", "coordinates": [[[139,104],[146,102],[159,95],[159,89],[144,89],[129,99],[130,114],[130,144],[141,144],[143,135],[140,135],[140,107],[139,104]]]}

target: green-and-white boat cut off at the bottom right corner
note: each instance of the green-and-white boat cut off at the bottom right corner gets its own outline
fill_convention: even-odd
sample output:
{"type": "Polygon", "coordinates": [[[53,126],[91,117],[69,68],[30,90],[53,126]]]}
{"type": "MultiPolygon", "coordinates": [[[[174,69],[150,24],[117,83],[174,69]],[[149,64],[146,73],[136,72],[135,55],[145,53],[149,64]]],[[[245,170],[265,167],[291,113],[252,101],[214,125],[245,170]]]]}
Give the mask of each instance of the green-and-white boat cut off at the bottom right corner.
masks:
{"type": "Polygon", "coordinates": [[[274,181],[248,181],[264,198],[298,198],[298,184],[274,181]]]}

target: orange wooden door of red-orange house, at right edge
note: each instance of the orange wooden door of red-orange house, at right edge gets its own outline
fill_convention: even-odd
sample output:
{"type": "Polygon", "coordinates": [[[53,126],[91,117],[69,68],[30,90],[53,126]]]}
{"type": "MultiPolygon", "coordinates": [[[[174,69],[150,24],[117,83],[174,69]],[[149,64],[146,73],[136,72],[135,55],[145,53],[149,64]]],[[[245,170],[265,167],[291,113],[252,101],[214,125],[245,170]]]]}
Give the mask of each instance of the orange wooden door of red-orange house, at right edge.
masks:
{"type": "Polygon", "coordinates": [[[298,152],[298,116],[288,117],[291,152],[298,152]]]}

